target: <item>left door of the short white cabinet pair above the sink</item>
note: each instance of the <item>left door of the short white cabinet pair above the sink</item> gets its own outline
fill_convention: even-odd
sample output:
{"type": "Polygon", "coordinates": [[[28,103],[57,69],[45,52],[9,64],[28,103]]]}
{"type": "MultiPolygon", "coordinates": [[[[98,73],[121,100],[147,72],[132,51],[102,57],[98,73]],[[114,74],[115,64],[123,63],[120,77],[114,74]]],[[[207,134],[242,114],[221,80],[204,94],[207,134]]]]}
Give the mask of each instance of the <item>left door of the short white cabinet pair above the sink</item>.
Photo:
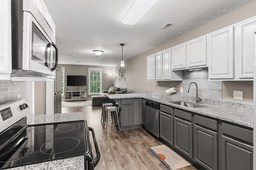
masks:
{"type": "Polygon", "coordinates": [[[186,68],[186,43],[176,45],[172,50],[172,69],[186,68]]]}

